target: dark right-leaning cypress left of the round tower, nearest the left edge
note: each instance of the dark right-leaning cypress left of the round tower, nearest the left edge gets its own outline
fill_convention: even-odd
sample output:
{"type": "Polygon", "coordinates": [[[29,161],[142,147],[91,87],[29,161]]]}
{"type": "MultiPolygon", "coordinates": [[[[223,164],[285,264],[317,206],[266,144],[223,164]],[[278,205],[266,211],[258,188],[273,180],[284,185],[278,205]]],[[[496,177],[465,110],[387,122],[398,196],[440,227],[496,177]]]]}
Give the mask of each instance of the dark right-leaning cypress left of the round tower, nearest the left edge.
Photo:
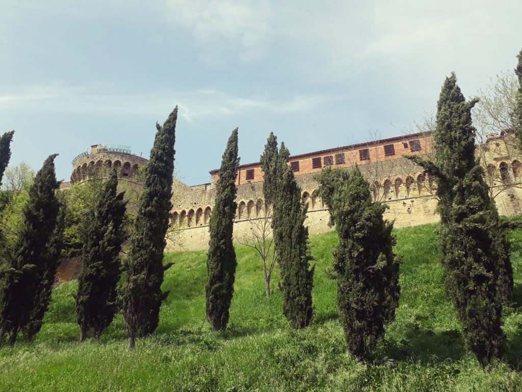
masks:
{"type": "Polygon", "coordinates": [[[59,232],[56,222],[60,202],[56,190],[54,158],[51,155],[34,177],[23,207],[23,226],[0,295],[0,341],[9,336],[11,344],[23,330],[31,338],[40,329],[49,305],[46,287],[52,284],[59,257],[59,232]],[[55,244],[57,246],[55,246],[55,244]],[[49,282],[51,281],[51,282],[49,282]]]}

